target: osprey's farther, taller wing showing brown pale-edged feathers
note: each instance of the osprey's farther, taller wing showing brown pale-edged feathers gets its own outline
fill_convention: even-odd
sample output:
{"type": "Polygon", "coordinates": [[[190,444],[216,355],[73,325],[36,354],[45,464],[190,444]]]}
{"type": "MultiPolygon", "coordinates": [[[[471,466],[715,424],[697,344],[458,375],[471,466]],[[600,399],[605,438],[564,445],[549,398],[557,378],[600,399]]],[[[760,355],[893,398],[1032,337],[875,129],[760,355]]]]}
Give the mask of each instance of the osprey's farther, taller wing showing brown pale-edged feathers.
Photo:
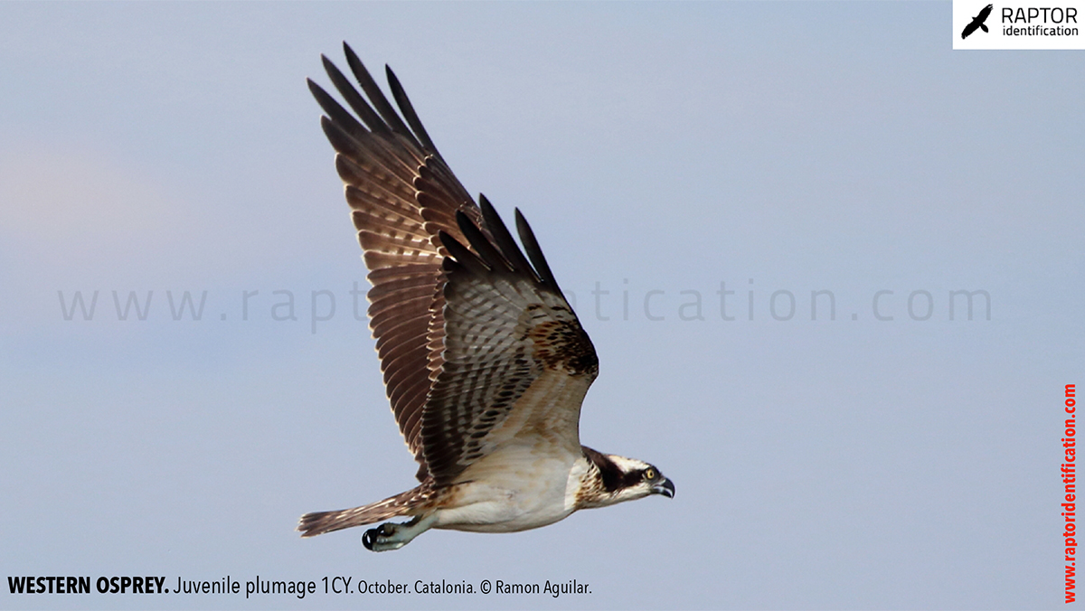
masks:
{"type": "Polygon", "coordinates": [[[433,145],[392,71],[386,71],[388,84],[406,123],[350,47],[344,42],[343,49],[366,97],[322,56],[324,69],[361,122],[311,80],[309,90],[327,113],[321,126],[335,149],[335,168],[370,269],[369,326],[392,411],[421,464],[418,478],[425,480],[422,410],[443,364],[445,339],[445,252],[438,234],[465,241],[456,215],[480,224],[482,214],[433,145]]]}

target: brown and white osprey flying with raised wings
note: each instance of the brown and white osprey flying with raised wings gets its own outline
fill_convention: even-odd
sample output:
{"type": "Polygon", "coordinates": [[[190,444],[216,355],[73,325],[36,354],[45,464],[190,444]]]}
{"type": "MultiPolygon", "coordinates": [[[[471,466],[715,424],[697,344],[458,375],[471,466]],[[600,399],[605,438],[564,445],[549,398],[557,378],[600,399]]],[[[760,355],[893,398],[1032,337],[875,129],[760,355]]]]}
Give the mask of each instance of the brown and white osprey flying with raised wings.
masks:
{"type": "Polygon", "coordinates": [[[327,113],[321,126],[370,270],[384,384],[421,484],[306,513],[302,536],[409,518],[362,535],[384,551],[429,529],[509,533],[577,509],[673,497],[655,467],[580,445],[580,403],[599,360],[520,211],[523,251],[445,164],[392,71],[403,118],[343,47],[365,97],[327,56],[324,69],[361,120],[308,84],[327,113]]]}

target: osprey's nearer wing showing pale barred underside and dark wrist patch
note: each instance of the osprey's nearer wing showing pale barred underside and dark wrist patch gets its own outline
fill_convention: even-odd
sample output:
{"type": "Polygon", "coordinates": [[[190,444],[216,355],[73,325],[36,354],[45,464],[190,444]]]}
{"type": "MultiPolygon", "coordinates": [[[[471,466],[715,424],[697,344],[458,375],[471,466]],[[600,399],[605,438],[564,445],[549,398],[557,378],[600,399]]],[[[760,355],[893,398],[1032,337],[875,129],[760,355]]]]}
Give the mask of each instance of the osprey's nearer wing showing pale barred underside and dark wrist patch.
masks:
{"type": "Polygon", "coordinates": [[[451,255],[444,260],[445,353],[422,419],[438,486],[506,444],[547,437],[579,453],[580,403],[599,371],[591,340],[520,211],[531,264],[489,202],[481,203],[492,238],[463,214],[470,250],[441,234],[451,255]]]}

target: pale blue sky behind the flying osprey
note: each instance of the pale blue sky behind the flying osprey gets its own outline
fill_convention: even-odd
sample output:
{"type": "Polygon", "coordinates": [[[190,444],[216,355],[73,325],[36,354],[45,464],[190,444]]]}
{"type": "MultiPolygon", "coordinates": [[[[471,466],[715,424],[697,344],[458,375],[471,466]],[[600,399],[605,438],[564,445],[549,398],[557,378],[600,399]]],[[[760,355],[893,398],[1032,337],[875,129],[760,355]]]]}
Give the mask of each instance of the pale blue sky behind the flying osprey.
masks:
{"type": "Polygon", "coordinates": [[[1061,607],[1085,54],[955,52],[949,21],[948,2],[0,4],[0,574],[592,589],[0,607],[1061,607]],[[584,443],[658,464],[676,498],[381,555],[359,529],[293,532],[414,472],[304,82],[343,40],[396,69],[472,193],[532,221],[601,359],[584,443]],[[991,319],[976,294],[950,320],[959,290],[991,319]],[[58,295],[95,291],[90,320],[58,295]],[[145,320],[118,320],[114,291],[145,320]],[[206,291],[199,321],[174,320],[186,291],[206,291]],[[813,291],[834,319],[825,294],[812,320],[813,291]]]}

